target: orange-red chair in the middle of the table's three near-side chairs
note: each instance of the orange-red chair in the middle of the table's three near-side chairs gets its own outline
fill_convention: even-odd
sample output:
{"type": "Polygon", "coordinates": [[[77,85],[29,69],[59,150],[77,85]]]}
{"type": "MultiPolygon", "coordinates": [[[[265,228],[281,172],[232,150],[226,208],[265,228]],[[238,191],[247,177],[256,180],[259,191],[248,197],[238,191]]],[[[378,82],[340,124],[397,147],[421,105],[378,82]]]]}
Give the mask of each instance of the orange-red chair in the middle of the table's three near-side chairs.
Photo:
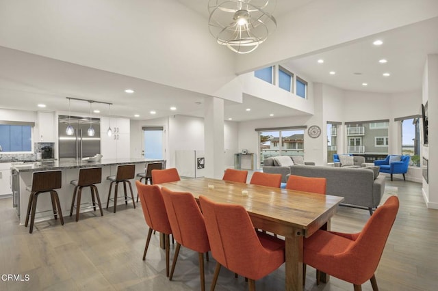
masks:
{"type": "MultiPolygon", "coordinates": [[[[201,290],[205,290],[204,253],[210,250],[204,217],[192,193],[174,192],[162,187],[164,204],[172,228],[172,235],[177,240],[177,248],[172,262],[169,279],[172,280],[181,245],[198,252],[201,290]]],[[[207,257],[208,258],[208,257],[207,257]]]]}

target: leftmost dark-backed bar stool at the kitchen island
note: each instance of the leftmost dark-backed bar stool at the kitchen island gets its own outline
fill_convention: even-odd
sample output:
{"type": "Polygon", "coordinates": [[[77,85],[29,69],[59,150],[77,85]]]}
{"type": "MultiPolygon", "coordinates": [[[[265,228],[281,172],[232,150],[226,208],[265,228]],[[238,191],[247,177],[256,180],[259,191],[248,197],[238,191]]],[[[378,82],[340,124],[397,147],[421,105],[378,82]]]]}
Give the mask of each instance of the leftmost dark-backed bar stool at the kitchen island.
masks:
{"type": "MultiPolygon", "coordinates": [[[[62,210],[60,205],[60,198],[57,195],[55,189],[60,189],[62,186],[62,171],[36,171],[32,175],[32,184],[27,186],[26,190],[30,192],[29,204],[27,204],[27,214],[25,226],[29,223],[30,217],[30,227],[29,234],[34,231],[34,221],[36,214],[36,202],[38,195],[41,193],[50,193],[50,198],[52,202],[53,217],[57,219],[60,216],[61,225],[64,225],[64,219],[62,218],[62,210]]],[[[51,210],[47,210],[51,211],[51,210]]],[[[46,212],[46,211],[41,211],[46,212]]],[[[38,212],[38,213],[41,213],[38,212]]]]}

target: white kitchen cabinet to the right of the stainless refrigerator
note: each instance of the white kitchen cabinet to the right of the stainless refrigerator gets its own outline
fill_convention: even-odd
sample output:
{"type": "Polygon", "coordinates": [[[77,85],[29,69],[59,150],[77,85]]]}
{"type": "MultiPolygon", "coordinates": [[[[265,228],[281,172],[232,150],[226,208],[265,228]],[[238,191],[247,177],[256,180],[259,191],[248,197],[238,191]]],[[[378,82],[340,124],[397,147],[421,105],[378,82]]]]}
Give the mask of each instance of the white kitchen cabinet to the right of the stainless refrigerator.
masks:
{"type": "Polygon", "coordinates": [[[111,118],[112,136],[108,137],[110,118],[101,118],[101,154],[103,158],[129,158],[129,119],[111,118]]]}

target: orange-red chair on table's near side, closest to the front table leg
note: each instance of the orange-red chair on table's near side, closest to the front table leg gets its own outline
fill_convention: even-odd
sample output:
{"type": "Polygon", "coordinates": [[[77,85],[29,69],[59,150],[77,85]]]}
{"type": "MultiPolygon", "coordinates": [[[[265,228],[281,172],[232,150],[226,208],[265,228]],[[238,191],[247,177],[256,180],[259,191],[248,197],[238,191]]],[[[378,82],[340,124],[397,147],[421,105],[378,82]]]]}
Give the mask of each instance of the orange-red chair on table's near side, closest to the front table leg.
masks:
{"type": "Polygon", "coordinates": [[[245,208],[212,202],[199,197],[216,270],[211,283],[214,290],[220,266],[248,278],[255,290],[255,280],[275,271],[285,262],[285,242],[269,234],[256,232],[245,208]],[[239,223],[236,223],[238,221],[239,223]]]}

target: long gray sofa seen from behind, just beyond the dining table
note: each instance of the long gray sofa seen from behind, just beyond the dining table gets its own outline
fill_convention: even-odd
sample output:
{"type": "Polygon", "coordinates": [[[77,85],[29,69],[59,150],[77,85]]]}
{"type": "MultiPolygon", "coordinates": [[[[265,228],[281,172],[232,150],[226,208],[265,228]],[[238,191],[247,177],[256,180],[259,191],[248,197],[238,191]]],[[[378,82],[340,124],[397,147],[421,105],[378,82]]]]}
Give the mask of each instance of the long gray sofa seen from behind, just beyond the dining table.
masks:
{"type": "Polygon", "coordinates": [[[290,174],[327,179],[327,195],[344,197],[342,204],[368,208],[370,214],[381,203],[385,192],[385,176],[378,176],[378,167],[306,167],[294,165],[290,174]],[[376,174],[375,174],[376,173],[376,174]]]}

